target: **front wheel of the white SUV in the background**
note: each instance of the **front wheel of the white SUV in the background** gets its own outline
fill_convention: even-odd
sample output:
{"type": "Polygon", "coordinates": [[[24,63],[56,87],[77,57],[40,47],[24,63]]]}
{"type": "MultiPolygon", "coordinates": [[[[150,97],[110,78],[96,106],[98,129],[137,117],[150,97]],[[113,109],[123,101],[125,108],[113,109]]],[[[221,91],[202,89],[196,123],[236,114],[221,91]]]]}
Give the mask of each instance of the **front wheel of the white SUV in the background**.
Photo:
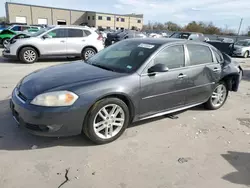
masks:
{"type": "Polygon", "coordinates": [[[19,59],[26,64],[35,63],[38,59],[38,53],[32,47],[25,47],[21,49],[19,59]]]}

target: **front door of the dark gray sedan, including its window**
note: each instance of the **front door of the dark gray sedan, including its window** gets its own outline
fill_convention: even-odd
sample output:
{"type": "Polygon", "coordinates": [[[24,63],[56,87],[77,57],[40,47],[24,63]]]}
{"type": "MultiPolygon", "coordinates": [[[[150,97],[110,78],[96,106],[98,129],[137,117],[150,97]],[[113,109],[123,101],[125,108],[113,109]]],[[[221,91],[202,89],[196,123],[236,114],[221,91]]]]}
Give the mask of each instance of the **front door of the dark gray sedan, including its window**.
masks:
{"type": "Polygon", "coordinates": [[[165,64],[168,72],[141,75],[140,118],[182,107],[185,101],[186,80],[183,45],[166,47],[160,51],[149,68],[165,64]]]}

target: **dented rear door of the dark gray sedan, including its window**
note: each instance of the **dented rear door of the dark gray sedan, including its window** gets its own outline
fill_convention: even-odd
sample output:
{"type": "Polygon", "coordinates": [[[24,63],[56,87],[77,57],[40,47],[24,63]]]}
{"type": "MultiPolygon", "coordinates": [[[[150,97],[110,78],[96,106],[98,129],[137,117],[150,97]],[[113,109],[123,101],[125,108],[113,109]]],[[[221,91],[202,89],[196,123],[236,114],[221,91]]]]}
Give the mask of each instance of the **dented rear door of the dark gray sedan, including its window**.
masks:
{"type": "Polygon", "coordinates": [[[220,80],[221,65],[213,58],[209,46],[187,44],[187,75],[189,89],[186,93],[186,105],[205,102],[212,94],[215,84],[220,80]]]}

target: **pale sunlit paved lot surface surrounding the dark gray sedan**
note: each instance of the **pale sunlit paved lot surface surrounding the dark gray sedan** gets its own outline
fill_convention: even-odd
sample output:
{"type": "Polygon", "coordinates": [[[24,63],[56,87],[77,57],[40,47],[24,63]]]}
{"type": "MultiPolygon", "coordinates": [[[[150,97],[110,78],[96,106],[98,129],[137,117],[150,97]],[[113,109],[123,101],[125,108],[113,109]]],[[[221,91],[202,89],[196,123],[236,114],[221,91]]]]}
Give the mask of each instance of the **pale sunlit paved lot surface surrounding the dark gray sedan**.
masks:
{"type": "Polygon", "coordinates": [[[237,93],[218,111],[196,107],[134,124],[117,141],[95,146],[82,136],[44,138],[19,129],[8,99],[16,83],[40,68],[0,56],[0,187],[250,187],[250,59],[237,93]]]}

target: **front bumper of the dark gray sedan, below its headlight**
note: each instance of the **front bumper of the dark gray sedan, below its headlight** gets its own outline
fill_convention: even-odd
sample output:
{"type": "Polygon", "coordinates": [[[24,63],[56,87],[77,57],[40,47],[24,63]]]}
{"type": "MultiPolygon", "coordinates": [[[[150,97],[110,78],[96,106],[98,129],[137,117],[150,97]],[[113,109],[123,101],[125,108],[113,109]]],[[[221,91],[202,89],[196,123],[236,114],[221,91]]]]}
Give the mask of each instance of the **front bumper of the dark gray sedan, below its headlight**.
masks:
{"type": "Polygon", "coordinates": [[[15,89],[10,100],[13,118],[28,132],[39,136],[63,137],[81,134],[85,109],[41,107],[19,97],[15,89]]]}

